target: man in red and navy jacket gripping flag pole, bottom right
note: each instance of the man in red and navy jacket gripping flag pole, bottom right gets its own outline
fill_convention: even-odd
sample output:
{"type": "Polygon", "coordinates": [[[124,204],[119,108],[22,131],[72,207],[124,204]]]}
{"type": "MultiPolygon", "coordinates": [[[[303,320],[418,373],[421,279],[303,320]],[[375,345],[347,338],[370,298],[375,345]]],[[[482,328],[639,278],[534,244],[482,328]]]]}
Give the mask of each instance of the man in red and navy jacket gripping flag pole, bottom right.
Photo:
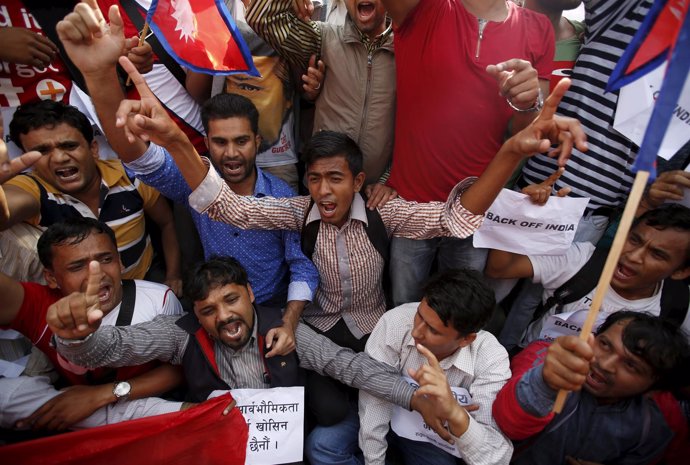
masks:
{"type": "MultiPolygon", "coordinates": [[[[498,426],[515,442],[511,463],[655,463],[673,433],[645,394],[687,383],[688,354],[678,328],[626,311],[611,314],[587,342],[563,336],[530,344],[513,359],[513,376],[493,405],[498,426]],[[560,389],[574,392],[555,415],[560,389]]],[[[434,385],[437,395],[445,391],[436,390],[441,381],[434,385]]],[[[452,405],[446,395],[437,398],[452,405]]]]}

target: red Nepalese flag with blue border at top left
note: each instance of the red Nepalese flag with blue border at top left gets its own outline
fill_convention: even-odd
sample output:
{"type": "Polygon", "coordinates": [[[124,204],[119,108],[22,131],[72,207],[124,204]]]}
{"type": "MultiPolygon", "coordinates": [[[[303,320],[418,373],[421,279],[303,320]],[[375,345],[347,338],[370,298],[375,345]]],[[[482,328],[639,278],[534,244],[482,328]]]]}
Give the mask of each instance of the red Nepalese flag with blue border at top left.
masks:
{"type": "Polygon", "coordinates": [[[186,68],[259,76],[222,0],[153,0],[146,21],[163,48],[186,68]]]}

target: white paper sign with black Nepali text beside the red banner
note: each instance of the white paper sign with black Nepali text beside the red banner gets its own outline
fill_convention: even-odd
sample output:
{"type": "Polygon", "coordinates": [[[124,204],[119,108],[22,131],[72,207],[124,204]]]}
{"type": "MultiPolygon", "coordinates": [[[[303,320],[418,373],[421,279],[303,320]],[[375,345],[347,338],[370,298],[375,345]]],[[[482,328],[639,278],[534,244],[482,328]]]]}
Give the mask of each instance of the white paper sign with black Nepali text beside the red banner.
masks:
{"type": "Polygon", "coordinates": [[[302,461],[304,387],[233,389],[230,392],[249,426],[247,464],[302,461]]]}

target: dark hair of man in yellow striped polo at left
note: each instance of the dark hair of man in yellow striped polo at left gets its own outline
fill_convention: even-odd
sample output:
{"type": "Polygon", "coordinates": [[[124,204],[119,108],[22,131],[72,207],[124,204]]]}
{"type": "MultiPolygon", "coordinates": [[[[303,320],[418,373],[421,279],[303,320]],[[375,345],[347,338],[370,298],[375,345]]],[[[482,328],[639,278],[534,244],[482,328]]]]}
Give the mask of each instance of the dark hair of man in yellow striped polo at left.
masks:
{"type": "Polygon", "coordinates": [[[54,128],[62,123],[81,132],[88,144],[93,141],[93,128],[86,115],[72,105],[53,100],[26,103],[17,108],[10,122],[10,139],[22,150],[26,150],[20,139],[22,134],[43,127],[54,128]]]}

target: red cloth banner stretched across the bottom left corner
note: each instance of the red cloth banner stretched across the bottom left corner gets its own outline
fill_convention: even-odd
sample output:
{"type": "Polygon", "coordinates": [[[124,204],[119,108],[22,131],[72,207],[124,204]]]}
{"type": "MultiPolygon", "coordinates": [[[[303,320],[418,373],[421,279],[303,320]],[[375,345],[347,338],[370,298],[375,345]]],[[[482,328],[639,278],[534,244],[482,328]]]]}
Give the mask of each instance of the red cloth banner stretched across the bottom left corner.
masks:
{"type": "Polygon", "coordinates": [[[23,465],[244,465],[249,429],[226,395],[181,412],[0,447],[23,465]]]}

